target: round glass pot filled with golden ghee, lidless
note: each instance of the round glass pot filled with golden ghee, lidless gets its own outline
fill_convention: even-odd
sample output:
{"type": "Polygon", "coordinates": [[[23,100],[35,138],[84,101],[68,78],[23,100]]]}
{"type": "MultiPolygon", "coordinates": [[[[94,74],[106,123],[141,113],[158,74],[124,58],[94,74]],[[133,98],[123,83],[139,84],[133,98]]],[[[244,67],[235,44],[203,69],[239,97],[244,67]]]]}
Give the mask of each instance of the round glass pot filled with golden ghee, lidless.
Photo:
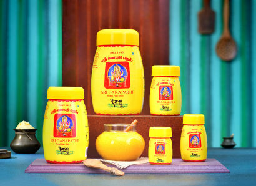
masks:
{"type": "Polygon", "coordinates": [[[136,125],[104,124],[104,132],[96,139],[96,150],[106,160],[134,161],[144,148],[145,140],[136,132],[136,125]],[[124,132],[127,127],[129,132],[124,132]]]}

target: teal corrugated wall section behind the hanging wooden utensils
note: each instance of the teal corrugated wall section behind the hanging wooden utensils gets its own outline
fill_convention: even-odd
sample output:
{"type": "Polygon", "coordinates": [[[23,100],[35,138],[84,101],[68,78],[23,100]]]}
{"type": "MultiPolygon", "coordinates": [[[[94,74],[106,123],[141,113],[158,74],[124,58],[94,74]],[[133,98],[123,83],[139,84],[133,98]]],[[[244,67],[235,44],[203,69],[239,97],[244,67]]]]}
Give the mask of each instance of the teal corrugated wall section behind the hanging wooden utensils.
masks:
{"type": "Polygon", "coordinates": [[[237,147],[256,147],[256,1],[230,1],[233,61],[221,61],[215,45],[222,34],[223,1],[211,1],[215,32],[197,32],[202,1],[170,1],[170,64],[181,68],[182,114],[205,115],[210,147],[234,133],[237,147]]]}

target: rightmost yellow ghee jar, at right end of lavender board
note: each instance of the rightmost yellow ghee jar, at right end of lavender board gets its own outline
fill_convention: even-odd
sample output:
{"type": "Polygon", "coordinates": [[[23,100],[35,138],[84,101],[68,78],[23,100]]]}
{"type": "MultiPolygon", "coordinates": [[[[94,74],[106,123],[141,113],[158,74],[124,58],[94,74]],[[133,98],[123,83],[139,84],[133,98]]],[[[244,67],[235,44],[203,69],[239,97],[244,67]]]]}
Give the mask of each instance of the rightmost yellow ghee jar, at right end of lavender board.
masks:
{"type": "Polygon", "coordinates": [[[180,137],[181,158],[185,162],[204,162],[207,157],[207,135],[203,114],[184,114],[180,137]]]}

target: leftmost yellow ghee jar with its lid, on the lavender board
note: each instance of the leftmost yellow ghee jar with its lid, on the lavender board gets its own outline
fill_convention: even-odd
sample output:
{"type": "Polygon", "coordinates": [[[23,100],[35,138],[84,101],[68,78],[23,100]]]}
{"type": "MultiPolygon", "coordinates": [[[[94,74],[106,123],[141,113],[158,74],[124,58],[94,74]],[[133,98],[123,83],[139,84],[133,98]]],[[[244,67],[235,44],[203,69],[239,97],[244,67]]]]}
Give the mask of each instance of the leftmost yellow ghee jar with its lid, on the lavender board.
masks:
{"type": "Polygon", "coordinates": [[[44,158],[49,163],[74,164],[87,157],[89,130],[84,89],[49,87],[44,114],[44,158]]]}

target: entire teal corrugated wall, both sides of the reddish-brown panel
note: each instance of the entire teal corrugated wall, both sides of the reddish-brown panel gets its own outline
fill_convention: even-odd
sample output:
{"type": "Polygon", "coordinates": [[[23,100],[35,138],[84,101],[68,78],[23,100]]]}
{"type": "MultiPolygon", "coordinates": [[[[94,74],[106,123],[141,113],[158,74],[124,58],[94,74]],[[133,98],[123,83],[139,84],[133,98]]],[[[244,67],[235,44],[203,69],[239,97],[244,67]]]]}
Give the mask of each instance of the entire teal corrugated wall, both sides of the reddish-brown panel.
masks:
{"type": "MultiPolygon", "coordinates": [[[[212,1],[215,32],[197,32],[199,0],[170,1],[170,64],[181,67],[182,114],[205,114],[209,147],[235,134],[237,147],[256,147],[256,0],[230,2],[230,31],[237,57],[221,61],[222,2],[212,1]]],[[[0,146],[14,138],[18,122],[37,127],[49,86],[61,86],[61,0],[0,1],[0,146]]]]}

